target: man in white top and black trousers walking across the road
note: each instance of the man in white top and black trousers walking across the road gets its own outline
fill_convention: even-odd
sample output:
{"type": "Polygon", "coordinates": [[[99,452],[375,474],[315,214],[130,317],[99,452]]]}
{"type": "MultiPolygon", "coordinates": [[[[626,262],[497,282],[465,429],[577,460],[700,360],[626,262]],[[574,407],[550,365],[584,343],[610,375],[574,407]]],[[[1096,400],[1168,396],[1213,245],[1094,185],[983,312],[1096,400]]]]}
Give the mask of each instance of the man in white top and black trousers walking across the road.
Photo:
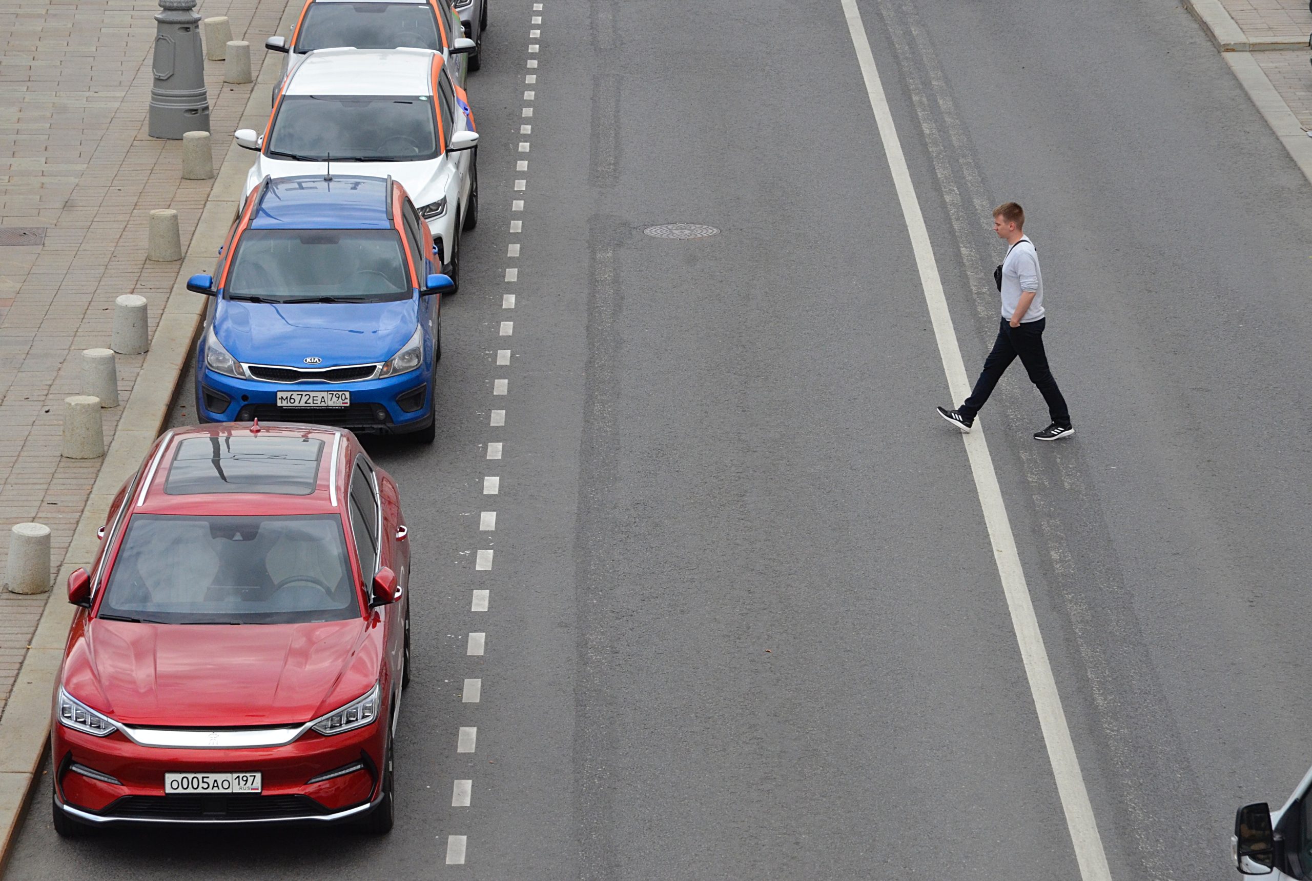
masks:
{"type": "Polygon", "coordinates": [[[1048,404],[1052,424],[1034,432],[1034,440],[1059,440],[1075,433],[1065,398],[1057,389],[1057,381],[1048,370],[1048,356],[1043,351],[1043,273],[1039,272],[1039,255],[1034,243],[1023,232],[1025,211],[1015,202],[1006,202],[993,209],[993,231],[1008,244],[1006,257],[993,276],[1002,294],[1002,320],[998,326],[993,351],[984,358],[984,370],[975,381],[975,390],[956,410],[938,408],[938,415],[970,433],[975,415],[993,393],[993,386],[1002,378],[1008,365],[1019,356],[1030,382],[1039,387],[1048,404]]]}

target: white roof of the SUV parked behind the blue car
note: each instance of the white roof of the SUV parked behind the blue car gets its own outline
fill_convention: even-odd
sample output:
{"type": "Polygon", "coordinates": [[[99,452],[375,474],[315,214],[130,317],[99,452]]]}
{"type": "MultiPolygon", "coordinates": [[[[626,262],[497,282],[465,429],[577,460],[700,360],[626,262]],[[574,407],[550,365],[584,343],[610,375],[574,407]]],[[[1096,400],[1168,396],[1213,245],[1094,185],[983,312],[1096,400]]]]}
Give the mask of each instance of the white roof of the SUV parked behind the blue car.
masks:
{"type": "Polygon", "coordinates": [[[432,95],[426,49],[320,49],[306,55],[285,95],[432,95]]]}

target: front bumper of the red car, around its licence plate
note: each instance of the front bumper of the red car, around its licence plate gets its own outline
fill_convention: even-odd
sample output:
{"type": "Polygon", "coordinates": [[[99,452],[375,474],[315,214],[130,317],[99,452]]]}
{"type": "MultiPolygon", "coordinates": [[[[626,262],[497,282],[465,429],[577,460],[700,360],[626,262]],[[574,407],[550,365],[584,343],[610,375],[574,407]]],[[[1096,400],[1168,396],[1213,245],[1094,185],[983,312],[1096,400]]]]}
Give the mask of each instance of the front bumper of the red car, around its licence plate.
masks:
{"type": "Polygon", "coordinates": [[[307,730],[291,743],[253,748],[142,746],[122,730],[98,738],[56,720],[50,734],[55,800],[70,817],[94,825],[350,819],[369,813],[382,796],[386,720],[383,716],[373,725],[331,737],[307,730]],[[310,783],[352,765],[359,768],[310,783]],[[260,794],[164,793],[165,772],[252,771],[262,776],[260,794]]]}

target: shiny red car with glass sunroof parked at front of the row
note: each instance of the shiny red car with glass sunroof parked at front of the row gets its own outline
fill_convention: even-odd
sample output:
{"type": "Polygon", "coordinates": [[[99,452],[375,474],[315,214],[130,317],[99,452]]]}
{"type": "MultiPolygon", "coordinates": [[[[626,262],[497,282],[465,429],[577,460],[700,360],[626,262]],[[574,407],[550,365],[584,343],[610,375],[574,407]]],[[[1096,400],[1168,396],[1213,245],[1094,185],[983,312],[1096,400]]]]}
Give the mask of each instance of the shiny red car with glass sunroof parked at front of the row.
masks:
{"type": "Polygon", "coordinates": [[[60,835],[113,823],[387,832],[409,674],[396,483],[349,431],[160,437],[110,507],[50,726],[60,835]]]}

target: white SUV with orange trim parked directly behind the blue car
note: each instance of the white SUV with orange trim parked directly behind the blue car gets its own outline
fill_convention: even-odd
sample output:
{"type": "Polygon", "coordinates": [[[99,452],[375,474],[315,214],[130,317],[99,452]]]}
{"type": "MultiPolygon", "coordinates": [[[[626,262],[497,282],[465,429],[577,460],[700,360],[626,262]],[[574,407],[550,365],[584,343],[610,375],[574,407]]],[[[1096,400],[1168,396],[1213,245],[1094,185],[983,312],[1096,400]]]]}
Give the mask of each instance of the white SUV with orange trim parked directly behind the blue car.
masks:
{"type": "Polygon", "coordinates": [[[235,133],[260,151],[249,193],[265,177],[394,177],[433,232],[442,272],[458,281],[461,230],[478,223],[479,142],[463,89],[442,56],[419,49],[321,49],[282,87],[262,135],[235,133]]]}

